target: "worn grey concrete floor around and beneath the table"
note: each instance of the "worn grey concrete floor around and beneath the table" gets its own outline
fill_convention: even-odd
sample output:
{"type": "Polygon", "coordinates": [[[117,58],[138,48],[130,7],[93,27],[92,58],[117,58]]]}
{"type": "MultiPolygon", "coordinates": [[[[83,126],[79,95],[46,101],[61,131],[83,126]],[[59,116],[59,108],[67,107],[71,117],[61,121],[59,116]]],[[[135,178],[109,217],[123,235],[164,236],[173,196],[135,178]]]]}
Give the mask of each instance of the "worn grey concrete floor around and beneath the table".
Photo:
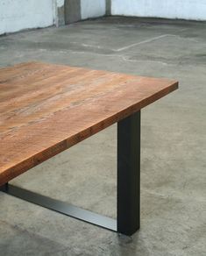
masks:
{"type": "MultiPolygon", "coordinates": [[[[141,228],[135,235],[0,192],[0,255],[206,255],[206,24],[100,18],[0,37],[0,67],[28,60],[174,78],[180,89],[142,110],[141,228]]],[[[115,217],[116,128],[12,183],[115,217]]]]}

